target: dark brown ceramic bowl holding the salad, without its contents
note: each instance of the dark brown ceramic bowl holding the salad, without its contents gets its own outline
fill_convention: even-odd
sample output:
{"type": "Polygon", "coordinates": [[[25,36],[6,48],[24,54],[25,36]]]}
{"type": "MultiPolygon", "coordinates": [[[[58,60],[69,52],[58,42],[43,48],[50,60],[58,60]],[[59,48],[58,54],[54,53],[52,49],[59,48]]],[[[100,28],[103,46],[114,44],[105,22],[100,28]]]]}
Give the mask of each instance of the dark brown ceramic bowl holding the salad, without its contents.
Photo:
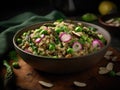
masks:
{"type": "MultiPolygon", "coordinates": [[[[79,21],[75,21],[75,22],[79,22],[79,21]]],[[[16,39],[23,32],[38,28],[43,24],[43,23],[39,23],[39,24],[25,27],[24,29],[18,31],[14,35],[13,44],[14,44],[15,50],[20,55],[20,57],[23,58],[25,62],[27,62],[33,68],[43,72],[65,74],[65,73],[79,72],[79,71],[88,69],[89,67],[92,67],[93,65],[98,63],[103,58],[104,54],[107,51],[108,46],[110,45],[111,36],[102,27],[99,27],[94,24],[86,23],[86,22],[82,22],[82,23],[97,28],[98,31],[101,32],[106,38],[107,45],[95,53],[91,53],[89,55],[80,56],[80,57],[73,57],[73,58],[49,58],[49,57],[35,56],[32,54],[26,53],[17,46],[16,39]]]]}

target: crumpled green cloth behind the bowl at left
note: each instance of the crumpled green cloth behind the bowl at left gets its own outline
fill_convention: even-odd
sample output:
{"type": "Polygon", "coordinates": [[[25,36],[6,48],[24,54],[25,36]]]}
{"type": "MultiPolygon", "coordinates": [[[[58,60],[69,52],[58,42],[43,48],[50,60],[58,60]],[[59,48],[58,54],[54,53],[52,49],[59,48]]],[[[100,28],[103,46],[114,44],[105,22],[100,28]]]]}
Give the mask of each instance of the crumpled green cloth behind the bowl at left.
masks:
{"type": "Polygon", "coordinates": [[[24,12],[9,20],[0,22],[0,27],[5,28],[0,33],[0,56],[4,55],[8,50],[13,49],[12,38],[16,31],[28,25],[61,18],[65,19],[66,17],[59,11],[52,11],[45,16],[40,16],[32,12],[24,12]]]}

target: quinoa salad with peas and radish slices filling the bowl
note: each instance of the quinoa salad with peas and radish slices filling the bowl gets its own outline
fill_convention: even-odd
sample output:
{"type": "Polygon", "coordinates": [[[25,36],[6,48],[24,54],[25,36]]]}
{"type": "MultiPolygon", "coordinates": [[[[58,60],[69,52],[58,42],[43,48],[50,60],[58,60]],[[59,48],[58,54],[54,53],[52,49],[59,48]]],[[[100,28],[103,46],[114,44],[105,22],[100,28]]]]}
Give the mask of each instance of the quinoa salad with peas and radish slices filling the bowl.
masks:
{"type": "Polygon", "coordinates": [[[27,53],[52,58],[84,56],[103,48],[107,41],[96,28],[82,22],[56,20],[28,30],[16,39],[27,53]]]}

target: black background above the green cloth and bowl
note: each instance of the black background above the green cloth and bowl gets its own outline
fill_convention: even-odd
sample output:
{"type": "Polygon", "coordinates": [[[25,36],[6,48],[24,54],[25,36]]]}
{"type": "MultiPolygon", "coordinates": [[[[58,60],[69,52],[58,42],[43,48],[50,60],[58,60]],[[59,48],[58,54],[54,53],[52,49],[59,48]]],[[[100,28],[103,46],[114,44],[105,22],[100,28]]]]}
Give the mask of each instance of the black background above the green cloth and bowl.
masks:
{"type": "MultiPolygon", "coordinates": [[[[98,5],[103,0],[73,0],[74,11],[69,11],[68,0],[0,0],[0,20],[8,19],[16,14],[32,11],[45,15],[52,10],[59,10],[66,16],[79,16],[86,12],[98,12],[98,5]]],[[[120,8],[119,0],[113,1],[120,8]]],[[[120,11],[120,9],[118,9],[120,11]]]]}

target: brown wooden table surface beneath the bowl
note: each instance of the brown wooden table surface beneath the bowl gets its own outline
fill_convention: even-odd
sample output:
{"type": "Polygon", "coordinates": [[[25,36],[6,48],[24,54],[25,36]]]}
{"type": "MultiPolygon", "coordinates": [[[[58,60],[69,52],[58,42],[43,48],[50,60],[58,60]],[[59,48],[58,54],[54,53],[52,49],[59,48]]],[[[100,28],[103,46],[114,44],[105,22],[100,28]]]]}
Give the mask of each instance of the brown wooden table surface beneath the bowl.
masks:
{"type": "MultiPolygon", "coordinates": [[[[17,90],[120,90],[120,77],[111,77],[100,75],[99,67],[106,66],[107,63],[114,63],[113,70],[120,71],[120,52],[114,48],[108,50],[113,51],[113,56],[117,56],[117,61],[111,61],[103,58],[98,64],[88,70],[72,73],[72,74],[49,74],[33,69],[30,65],[19,58],[20,69],[13,69],[15,73],[17,90]],[[38,81],[52,83],[51,88],[43,87],[38,81]],[[80,81],[87,84],[86,87],[76,87],[73,81],[80,81]],[[118,88],[118,89],[116,89],[118,88]]],[[[10,89],[11,90],[11,89],[10,89]]]]}

